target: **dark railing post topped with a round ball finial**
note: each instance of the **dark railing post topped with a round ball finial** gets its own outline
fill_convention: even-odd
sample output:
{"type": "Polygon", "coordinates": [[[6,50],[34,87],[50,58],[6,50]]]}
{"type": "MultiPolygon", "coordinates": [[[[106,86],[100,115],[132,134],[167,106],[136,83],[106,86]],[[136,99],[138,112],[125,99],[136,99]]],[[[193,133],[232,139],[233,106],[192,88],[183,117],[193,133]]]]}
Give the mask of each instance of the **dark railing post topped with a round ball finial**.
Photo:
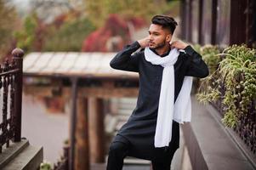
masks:
{"type": "Polygon", "coordinates": [[[22,79],[23,79],[23,55],[24,51],[20,48],[15,48],[12,51],[15,65],[19,71],[14,79],[14,142],[20,142],[21,139],[21,110],[22,110],[22,79]]]}

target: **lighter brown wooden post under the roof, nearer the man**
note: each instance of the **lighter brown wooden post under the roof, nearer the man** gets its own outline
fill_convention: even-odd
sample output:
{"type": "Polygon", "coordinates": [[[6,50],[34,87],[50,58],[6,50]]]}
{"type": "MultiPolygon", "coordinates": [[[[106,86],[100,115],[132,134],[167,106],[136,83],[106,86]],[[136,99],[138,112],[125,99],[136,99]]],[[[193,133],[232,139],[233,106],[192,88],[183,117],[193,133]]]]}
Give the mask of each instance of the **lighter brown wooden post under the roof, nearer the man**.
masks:
{"type": "Polygon", "coordinates": [[[92,163],[105,161],[103,99],[88,98],[89,144],[92,163]]]}

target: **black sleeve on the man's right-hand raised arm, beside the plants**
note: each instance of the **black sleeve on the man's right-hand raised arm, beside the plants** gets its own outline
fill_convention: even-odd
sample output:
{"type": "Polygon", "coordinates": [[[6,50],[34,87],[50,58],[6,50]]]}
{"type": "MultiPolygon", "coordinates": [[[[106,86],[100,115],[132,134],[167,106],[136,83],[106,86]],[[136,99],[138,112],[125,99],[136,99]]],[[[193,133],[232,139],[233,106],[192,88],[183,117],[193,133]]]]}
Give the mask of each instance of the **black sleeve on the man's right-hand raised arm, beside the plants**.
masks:
{"type": "Polygon", "coordinates": [[[185,76],[204,78],[208,77],[209,71],[208,66],[202,60],[202,56],[197,54],[196,51],[187,46],[185,53],[188,55],[188,67],[185,76]]]}

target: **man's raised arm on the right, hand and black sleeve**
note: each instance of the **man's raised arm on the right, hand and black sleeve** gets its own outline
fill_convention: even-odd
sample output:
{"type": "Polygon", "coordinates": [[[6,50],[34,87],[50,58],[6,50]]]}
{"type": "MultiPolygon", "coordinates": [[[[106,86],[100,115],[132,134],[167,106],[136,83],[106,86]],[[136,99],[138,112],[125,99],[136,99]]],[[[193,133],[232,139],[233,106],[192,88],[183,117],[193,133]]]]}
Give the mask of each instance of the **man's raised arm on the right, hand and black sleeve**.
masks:
{"type": "Polygon", "coordinates": [[[185,76],[199,78],[204,78],[208,76],[208,66],[202,60],[202,56],[200,54],[197,54],[190,45],[182,41],[171,42],[170,45],[172,48],[184,49],[185,53],[189,57],[189,65],[185,76]]]}

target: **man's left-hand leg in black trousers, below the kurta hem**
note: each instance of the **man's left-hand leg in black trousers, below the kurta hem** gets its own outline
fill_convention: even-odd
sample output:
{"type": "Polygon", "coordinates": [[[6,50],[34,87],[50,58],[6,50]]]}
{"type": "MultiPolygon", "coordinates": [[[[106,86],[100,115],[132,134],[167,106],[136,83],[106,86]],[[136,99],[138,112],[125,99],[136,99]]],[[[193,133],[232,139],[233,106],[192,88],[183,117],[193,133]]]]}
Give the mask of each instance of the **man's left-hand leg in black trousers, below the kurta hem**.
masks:
{"type": "Polygon", "coordinates": [[[111,143],[106,170],[122,170],[123,159],[128,154],[128,142],[111,143]]]}

